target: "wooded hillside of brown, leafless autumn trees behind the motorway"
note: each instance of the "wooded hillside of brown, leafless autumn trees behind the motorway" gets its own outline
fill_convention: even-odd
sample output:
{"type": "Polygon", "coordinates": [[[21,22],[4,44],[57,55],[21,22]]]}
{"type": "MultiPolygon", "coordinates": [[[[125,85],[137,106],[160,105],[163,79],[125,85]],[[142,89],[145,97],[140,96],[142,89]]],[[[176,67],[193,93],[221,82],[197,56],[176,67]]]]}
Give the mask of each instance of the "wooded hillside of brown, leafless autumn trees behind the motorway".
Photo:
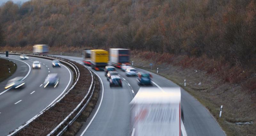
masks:
{"type": "Polygon", "coordinates": [[[207,55],[254,66],[255,4],[254,0],[8,1],[0,7],[0,44],[130,48],[207,55]]]}

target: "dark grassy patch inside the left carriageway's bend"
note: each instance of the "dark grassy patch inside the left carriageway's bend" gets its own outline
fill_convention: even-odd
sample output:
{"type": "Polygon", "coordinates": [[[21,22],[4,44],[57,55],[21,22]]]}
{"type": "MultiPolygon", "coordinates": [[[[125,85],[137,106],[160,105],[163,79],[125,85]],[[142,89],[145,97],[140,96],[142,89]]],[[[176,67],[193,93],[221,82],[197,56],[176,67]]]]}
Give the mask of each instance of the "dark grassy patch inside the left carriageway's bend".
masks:
{"type": "Polygon", "coordinates": [[[0,64],[0,82],[2,82],[16,71],[17,65],[14,66],[12,61],[6,59],[0,59],[0,64]],[[10,68],[11,73],[9,73],[8,68],[10,68]]]}

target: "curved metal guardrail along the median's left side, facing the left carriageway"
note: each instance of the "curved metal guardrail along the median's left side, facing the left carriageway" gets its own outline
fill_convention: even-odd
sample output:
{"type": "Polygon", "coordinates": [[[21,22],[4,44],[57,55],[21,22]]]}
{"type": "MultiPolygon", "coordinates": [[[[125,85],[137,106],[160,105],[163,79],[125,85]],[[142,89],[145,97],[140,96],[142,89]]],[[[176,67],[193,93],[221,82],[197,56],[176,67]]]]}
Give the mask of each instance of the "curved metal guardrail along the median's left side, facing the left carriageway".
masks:
{"type": "MultiPolygon", "coordinates": [[[[4,53],[0,53],[0,54],[4,54],[4,53]]],[[[11,55],[21,55],[20,53],[9,53],[11,55]]],[[[66,64],[68,64],[69,66],[71,66],[75,72],[76,72],[76,80],[75,83],[73,83],[73,85],[71,86],[71,88],[62,96],[60,97],[55,103],[53,103],[52,105],[47,106],[46,108],[44,108],[43,111],[39,112],[36,116],[34,116],[33,118],[31,118],[29,121],[27,121],[24,125],[21,125],[19,128],[17,128],[16,130],[14,130],[11,134],[9,134],[8,136],[12,136],[12,135],[16,135],[18,132],[20,132],[24,127],[26,127],[29,123],[31,123],[33,120],[35,120],[36,118],[38,118],[40,115],[42,115],[45,111],[49,110],[52,106],[54,106],[56,103],[58,103],[62,98],[64,98],[68,92],[70,90],[72,90],[74,88],[74,86],[76,85],[77,81],[79,80],[80,77],[80,72],[79,69],[77,68],[77,66],[67,60],[61,59],[61,58],[57,58],[57,57],[52,57],[52,56],[46,56],[46,55],[35,55],[35,54],[26,54],[28,56],[35,56],[35,57],[42,57],[42,58],[48,58],[48,59],[56,59],[59,60],[61,62],[64,62],[66,64]],[[77,75],[78,74],[78,75],[77,75]]],[[[90,71],[91,72],[91,71],[90,71]]],[[[91,73],[92,74],[92,73],[91,73]]],[[[92,77],[93,78],[93,77],[92,77]]],[[[91,85],[92,86],[92,85],[91,85]]],[[[91,89],[91,87],[90,87],[91,89]]]]}

